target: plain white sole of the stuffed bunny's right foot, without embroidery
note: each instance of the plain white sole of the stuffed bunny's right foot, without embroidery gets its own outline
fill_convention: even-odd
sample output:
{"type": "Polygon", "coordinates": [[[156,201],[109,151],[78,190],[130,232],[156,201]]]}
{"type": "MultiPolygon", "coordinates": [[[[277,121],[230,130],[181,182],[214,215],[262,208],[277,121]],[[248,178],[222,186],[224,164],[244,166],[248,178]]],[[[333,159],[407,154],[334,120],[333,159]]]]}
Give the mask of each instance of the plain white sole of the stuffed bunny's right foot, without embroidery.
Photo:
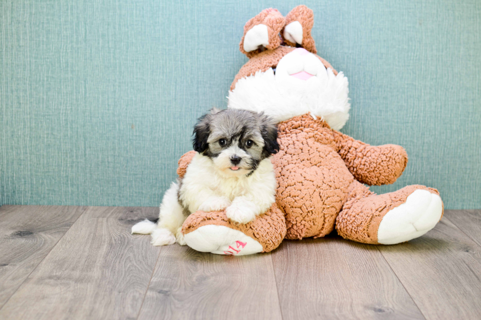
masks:
{"type": "Polygon", "coordinates": [[[377,230],[377,242],[395,245],[417,238],[434,228],[441,219],[441,197],[427,190],[416,190],[406,202],[391,209],[382,218],[377,230]]]}

